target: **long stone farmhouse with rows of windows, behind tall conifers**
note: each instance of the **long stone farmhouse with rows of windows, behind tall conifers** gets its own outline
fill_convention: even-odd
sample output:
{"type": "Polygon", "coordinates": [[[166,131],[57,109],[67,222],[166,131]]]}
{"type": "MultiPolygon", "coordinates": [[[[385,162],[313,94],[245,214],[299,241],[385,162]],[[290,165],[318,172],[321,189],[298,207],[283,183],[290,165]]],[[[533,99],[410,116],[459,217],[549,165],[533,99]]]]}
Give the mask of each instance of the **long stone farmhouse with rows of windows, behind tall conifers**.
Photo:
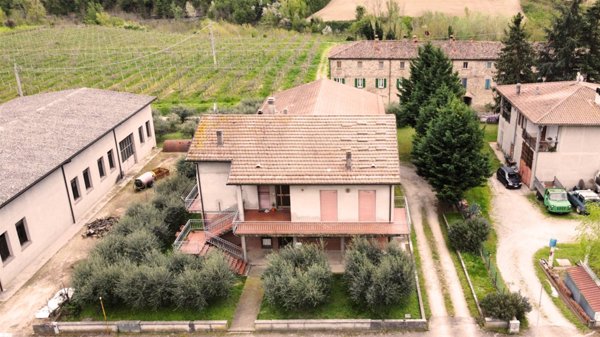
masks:
{"type": "MultiPolygon", "coordinates": [[[[410,76],[410,62],[425,42],[357,41],[335,47],[329,53],[331,79],[364,88],[384,98],[386,103],[398,102],[400,79],[410,76]]],[[[481,108],[493,103],[495,61],[502,49],[493,41],[431,41],[452,60],[454,70],[466,88],[467,104],[481,108]]]]}

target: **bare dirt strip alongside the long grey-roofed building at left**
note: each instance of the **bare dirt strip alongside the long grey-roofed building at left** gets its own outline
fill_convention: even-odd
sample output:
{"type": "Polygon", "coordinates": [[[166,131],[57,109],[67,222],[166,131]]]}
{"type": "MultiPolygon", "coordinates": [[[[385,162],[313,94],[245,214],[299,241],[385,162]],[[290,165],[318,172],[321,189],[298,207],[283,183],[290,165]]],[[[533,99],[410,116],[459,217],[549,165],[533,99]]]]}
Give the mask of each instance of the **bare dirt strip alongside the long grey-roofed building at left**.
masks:
{"type": "MultiPolygon", "coordinates": [[[[160,153],[152,159],[140,172],[157,166],[174,170],[174,164],[181,154],[160,153]]],[[[141,167],[141,165],[140,165],[141,167]]],[[[131,174],[128,177],[136,176],[131,174]]],[[[35,322],[34,314],[58,289],[68,286],[71,280],[73,266],[78,261],[87,257],[89,251],[95,246],[97,239],[82,238],[82,226],[85,220],[124,213],[127,206],[136,201],[149,200],[153,190],[142,193],[133,192],[132,182],[124,183],[109,193],[106,203],[96,206],[97,209],[88,216],[84,216],[80,223],[74,225],[76,233],[72,238],[65,239],[66,244],[46,262],[24,286],[21,287],[6,302],[0,303],[0,336],[2,333],[11,333],[13,336],[29,336],[32,333],[31,325],[35,322]]],[[[94,208],[96,208],[94,207],[94,208]]]]}

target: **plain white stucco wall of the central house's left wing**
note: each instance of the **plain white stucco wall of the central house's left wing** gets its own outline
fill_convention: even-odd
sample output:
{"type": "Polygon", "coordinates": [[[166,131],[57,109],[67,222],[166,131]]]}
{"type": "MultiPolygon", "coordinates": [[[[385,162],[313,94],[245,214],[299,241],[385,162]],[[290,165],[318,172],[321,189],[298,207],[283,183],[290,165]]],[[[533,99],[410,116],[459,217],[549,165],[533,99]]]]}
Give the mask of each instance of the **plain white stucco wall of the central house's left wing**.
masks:
{"type": "Polygon", "coordinates": [[[205,212],[218,212],[237,205],[238,186],[227,185],[230,163],[197,163],[205,212]]]}

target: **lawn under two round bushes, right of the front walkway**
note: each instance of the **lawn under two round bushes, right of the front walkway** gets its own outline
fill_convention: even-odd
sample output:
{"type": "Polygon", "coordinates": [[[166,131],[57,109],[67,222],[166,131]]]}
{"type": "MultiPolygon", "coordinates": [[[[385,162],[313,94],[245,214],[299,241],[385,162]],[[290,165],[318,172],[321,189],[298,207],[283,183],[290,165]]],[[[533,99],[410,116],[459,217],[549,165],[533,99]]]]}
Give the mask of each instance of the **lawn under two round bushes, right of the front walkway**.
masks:
{"type": "Polygon", "coordinates": [[[312,310],[285,312],[263,301],[258,319],[404,319],[405,314],[410,314],[412,318],[421,316],[416,290],[404,302],[390,307],[387,313],[377,315],[352,303],[346,292],[343,275],[334,274],[331,294],[325,304],[312,310]]]}

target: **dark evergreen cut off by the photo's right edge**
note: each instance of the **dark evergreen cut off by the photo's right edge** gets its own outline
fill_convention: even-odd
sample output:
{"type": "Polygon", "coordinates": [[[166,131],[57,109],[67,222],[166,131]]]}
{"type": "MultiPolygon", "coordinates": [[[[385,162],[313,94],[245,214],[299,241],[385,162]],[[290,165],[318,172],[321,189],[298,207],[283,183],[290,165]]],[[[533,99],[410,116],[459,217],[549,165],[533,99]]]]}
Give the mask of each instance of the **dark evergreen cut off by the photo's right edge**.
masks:
{"type": "Polygon", "coordinates": [[[600,81],[600,0],[585,12],[581,45],[585,50],[581,72],[589,82],[600,81]]]}

